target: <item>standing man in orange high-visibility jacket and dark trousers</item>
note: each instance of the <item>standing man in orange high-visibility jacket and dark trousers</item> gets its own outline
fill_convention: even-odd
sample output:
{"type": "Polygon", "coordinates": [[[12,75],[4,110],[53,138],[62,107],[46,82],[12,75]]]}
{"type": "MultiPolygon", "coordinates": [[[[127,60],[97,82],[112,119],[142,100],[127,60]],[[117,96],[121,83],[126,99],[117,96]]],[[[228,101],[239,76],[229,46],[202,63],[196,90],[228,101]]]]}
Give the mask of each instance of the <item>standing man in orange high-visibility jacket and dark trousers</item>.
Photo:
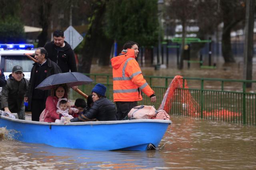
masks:
{"type": "Polygon", "coordinates": [[[128,112],[142,100],[143,91],[151,102],[156,102],[154,91],[143,78],[140,66],[136,61],[138,56],[138,43],[128,41],[124,50],[111,59],[113,67],[113,95],[116,102],[117,119],[123,120],[128,112]]]}

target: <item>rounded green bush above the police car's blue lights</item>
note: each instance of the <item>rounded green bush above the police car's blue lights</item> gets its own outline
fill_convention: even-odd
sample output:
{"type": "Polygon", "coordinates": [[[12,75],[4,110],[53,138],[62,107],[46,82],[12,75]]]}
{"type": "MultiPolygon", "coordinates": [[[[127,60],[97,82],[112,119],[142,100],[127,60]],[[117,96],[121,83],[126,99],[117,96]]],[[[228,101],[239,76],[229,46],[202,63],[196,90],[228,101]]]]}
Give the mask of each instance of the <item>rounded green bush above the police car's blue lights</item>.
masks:
{"type": "Polygon", "coordinates": [[[16,17],[7,16],[0,20],[0,43],[23,43],[24,25],[16,17]]]}

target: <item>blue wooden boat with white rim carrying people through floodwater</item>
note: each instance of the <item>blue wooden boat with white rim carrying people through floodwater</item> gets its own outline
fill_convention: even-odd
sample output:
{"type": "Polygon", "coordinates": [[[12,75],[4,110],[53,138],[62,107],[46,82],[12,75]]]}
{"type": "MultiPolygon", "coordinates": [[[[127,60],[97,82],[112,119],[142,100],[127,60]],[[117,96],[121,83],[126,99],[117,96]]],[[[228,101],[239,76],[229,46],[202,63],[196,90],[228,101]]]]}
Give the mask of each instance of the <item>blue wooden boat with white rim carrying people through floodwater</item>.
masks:
{"type": "Polygon", "coordinates": [[[140,119],[64,125],[0,117],[0,127],[6,127],[15,140],[86,150],[156,148],[170,124],[172,121],[168,120],[140,119]]]}

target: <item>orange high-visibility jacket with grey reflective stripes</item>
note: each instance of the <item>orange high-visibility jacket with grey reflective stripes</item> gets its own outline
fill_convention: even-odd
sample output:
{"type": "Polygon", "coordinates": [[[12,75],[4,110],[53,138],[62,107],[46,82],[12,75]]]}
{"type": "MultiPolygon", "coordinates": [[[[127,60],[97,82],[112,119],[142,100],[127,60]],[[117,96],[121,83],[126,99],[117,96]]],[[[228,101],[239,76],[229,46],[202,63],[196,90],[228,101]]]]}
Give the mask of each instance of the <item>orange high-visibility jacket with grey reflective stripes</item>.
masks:
{"type": "Polygon", "coordinates": [[[143,78],[140,66],[135,59],[134,49],[111,59],[113,67],[113,95],[116,101],[140,101],[142,90],[148,97],[154,94],[143,78]]]}

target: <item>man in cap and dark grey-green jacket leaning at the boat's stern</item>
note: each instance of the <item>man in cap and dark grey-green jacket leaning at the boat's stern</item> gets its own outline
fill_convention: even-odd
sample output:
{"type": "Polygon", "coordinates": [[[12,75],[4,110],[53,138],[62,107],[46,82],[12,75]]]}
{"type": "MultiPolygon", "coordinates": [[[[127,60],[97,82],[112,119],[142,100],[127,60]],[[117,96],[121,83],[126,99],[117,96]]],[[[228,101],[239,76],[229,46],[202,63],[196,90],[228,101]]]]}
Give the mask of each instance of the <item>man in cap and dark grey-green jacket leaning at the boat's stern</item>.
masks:
{"type": "Polygon", "coordinates": [[[16,65],[0,93],[1,108],[8,113],[18,113],[19,119],[25,120],[24,96],[27,90],[28,80],[24,78],[22,67],[16,65]]]}

